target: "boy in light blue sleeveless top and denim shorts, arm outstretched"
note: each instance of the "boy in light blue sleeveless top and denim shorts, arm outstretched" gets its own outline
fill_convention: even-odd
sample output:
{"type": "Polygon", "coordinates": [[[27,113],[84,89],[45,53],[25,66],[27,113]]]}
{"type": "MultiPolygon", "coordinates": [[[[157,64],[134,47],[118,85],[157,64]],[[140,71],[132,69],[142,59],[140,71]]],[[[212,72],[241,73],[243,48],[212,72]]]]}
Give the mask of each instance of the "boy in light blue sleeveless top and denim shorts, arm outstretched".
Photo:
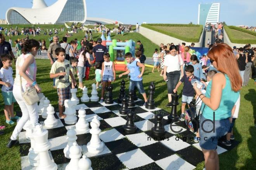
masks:
{"type": "Polygon", "coordinates": [[[147,95],[145,93],[145,90],[142,84],[142,75],[144,73],[145,66],[142,63],[133,60],[131,53],[125,54],[125,60],[127,61],[127,63],[129,63],[127,65],[128,70],[122,73],[121,75],[119,75],[119,78],[121,78],[121,76],[123,75],[127,75],[130,73],[131,78],[130,78],[129,91],[134,90],[134,87],[136,86],[138,91],[142,94],[144,101],[147,102],[147,95]],[[140,68],[142,68],[141,72],[140,72],[140,68]]]}

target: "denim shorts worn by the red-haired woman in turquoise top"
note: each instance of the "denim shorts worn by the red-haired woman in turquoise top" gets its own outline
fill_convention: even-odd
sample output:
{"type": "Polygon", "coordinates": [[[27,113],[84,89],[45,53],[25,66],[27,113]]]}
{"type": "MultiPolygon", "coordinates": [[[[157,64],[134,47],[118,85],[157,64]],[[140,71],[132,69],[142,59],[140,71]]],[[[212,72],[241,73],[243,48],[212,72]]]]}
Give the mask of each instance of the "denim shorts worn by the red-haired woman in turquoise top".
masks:
{"type": "Polygon", "coordinates": [[[230,128],[229,119],[215,120],[215,127],[213,122],[207,120],[203,115],[200,119],[200,142],[199,145],[204,150],[215,150],[218,144],[218,139],[228,133],[230,128]],[[203,123],[203,124],[202,124],[203,123]]]}

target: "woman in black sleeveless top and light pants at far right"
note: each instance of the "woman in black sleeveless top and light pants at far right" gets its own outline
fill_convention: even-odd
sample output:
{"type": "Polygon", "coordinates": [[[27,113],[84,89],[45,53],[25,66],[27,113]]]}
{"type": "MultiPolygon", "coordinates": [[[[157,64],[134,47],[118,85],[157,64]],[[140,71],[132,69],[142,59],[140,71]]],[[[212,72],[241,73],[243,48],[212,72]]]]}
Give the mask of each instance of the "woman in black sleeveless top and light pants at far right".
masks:
{"type": "Polygon", "coordinates": [[[235,56],[237,59],[237,64],[239,68],[239,74],[242,77],[242,82],[244,83],[244,71],[246,68],[246,63],[248,63],[247,55],[244,54],[244,49],[241,47],[238,49],[238,54],[235,56]]]}

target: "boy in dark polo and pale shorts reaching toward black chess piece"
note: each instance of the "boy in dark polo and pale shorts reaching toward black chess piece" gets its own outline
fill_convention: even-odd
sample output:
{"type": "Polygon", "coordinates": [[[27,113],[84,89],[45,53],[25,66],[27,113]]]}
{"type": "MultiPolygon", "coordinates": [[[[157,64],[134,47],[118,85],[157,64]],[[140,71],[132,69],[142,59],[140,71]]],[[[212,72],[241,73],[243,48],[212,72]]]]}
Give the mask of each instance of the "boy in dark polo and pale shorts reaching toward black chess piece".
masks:
{"type": "Polygon", "coordinates": [[[178,87],[181,85],[181,83],[184,82],[183,85],[183,91],[182,91],[182,114],[180,115],[180,120],[184,121],[184,115],[185,115],[185,107],[186,104],[190,104],[190,102],[194,98],[194,88],[191,84],[192,79],[200,80],[197,76],[194,75],[194,67],[192,65],[188,65],[185,67],[185,75],[180,79],[180,82],[176,85],[175,89],[173,89],[173,92],[176,93],[178,91],[178,87]]]}

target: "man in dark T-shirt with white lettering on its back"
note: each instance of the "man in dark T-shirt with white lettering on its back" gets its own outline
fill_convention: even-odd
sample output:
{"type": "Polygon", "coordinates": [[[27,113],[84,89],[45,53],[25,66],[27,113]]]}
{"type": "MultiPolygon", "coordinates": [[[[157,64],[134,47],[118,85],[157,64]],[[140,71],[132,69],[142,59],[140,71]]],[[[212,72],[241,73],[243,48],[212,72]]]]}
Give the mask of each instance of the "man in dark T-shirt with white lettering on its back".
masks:
{"type": "Polygon", "coordinates": [[[94,46],[92,49],[92,56],[95,59],[95,65],[97,65],[98,63],[102,65],[102,63],[104,62],[103,56],[105,53],[108,52],[106,46],[103,46],[101,43],[102,39],[98,38],[96,46],[94,46]]]}

